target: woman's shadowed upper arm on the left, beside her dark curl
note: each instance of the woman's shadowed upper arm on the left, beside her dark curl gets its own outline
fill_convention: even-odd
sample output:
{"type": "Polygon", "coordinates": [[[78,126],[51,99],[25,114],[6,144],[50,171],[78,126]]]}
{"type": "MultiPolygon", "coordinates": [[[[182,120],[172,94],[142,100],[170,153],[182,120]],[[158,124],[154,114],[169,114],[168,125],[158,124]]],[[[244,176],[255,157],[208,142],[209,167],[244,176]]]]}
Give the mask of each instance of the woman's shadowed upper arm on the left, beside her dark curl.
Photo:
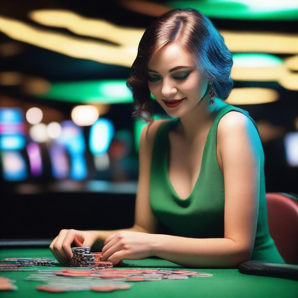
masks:
{"type": "Polygon", "coordinates": [[[158,220],[152,212],[149,201],[151,159],[156,132],[159,125],[164,121],[164,119],[155,120],[150,125],[148,130],[148,140],[145,138],[145,135],[149,124],[146,125],[142,129],[139,142],[139,178],[136,194],[134,226],[151,234],[156,233],[158,223],[158,220]]]}

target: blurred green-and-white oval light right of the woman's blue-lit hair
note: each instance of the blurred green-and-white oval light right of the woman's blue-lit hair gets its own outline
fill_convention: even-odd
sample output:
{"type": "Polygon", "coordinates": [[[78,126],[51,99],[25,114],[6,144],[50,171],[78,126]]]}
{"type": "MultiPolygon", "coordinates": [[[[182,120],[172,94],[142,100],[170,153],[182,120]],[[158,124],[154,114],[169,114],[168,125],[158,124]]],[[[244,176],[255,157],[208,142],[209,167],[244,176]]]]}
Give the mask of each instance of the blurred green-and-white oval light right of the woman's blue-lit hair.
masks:
{"type": "Polygon", "coordinates": [[[283,65],[280,57],[263,53],[234,53],[233,66],[236,67],[270,67],[283,65]]]}

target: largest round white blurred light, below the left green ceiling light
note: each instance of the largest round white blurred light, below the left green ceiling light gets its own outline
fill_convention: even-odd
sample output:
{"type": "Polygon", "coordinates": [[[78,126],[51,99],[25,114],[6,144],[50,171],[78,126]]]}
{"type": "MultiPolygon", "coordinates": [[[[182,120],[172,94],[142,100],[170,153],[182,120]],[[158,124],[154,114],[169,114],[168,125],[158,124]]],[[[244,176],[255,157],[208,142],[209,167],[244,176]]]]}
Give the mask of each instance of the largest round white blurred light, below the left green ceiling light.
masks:
{"type": "Polygon", "coordinates": [[[78,105],[72,110],[72,121],[78,126],[89,126],[96,122],[99,112],[93,105],[78,105]]]}

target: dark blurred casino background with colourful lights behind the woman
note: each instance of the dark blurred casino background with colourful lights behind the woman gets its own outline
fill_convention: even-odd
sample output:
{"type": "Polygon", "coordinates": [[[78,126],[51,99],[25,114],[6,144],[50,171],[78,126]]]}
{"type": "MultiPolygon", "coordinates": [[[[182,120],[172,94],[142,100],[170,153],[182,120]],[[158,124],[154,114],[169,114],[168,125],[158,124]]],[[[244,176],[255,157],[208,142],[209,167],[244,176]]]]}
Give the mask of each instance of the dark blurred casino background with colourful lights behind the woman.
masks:
{"type": "Polygon", "coordinates": [[[257,123],[266,192],[298,193],[297,1],[1,1],[1,239],[133,225],[146,123],[125,82],[145,28],[186,7],[233,53],[226,102],[257,123]]]}

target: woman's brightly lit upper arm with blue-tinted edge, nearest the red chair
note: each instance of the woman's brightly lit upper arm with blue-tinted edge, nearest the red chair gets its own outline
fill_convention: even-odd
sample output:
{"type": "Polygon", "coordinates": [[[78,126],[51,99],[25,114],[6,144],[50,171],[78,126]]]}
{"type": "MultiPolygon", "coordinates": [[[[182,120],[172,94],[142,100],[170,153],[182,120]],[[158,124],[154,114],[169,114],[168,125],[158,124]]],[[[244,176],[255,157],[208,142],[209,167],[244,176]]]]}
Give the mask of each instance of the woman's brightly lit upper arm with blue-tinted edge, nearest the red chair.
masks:
{"type": "Polygon", "coordinates": [[[218,127],[224,170],[224,238],[238,244],[250,260],[257,229],[260,188],[260,138],[253,122],[231,111],[218,127]]]}

